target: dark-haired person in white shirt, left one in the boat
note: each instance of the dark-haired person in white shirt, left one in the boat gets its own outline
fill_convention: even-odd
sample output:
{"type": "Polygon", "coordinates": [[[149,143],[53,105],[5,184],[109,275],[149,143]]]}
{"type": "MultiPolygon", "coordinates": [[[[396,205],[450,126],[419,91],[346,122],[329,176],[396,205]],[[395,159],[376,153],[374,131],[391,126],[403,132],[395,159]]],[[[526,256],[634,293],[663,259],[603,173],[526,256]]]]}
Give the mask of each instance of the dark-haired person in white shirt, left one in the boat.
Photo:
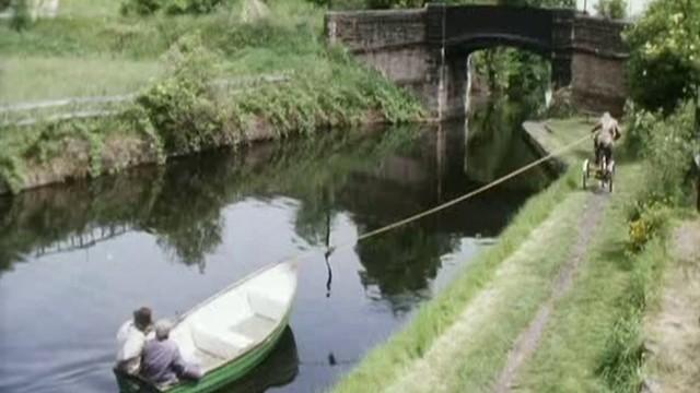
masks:
{"type": "Polygon", "coordinates": [[[141,354],[152,326],[151,309],[141,307],[133,319],[126,321],[117,332],[117,369],[136,376],[141,369],[141,354]]]}

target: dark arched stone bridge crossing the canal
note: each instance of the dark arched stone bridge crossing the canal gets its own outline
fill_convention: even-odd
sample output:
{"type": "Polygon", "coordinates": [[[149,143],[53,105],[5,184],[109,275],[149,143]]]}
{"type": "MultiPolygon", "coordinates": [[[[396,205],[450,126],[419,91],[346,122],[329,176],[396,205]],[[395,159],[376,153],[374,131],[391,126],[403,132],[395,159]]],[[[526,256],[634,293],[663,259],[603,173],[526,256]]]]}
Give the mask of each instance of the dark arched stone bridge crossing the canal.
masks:
{"type": "Polygon", "coordinates": [[[329,12],[325,24],[330,43],[415,91],[439,120],[464,116],[467,58],[495,46],[549,59],[553,87],[571,86],[574,104],[584,110],[619,114],[625,105],[629,55],[621,22],[569,9],[430,3],[329,12]]]}

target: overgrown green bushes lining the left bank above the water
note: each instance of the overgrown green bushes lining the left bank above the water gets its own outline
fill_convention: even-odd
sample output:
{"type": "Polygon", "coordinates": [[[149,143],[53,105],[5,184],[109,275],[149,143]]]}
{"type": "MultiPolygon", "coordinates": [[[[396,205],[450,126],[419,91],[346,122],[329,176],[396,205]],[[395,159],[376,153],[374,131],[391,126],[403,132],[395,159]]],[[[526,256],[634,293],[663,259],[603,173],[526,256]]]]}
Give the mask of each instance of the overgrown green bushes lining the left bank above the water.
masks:
{"type": "Polygon", "coordinates": [[[235,145],[256,129],[262,129],[265,135],[284,136],[366,121],[407,122],[423,116],[413,96],[355,63],[345,50],[322,46],[314,50],[314,67],[292,71],[287,80],[230,88],[220,79],[225,74],[219,70],[224,55],[208,48],[199,34],[185,35],[163,57],[166,73],[120,115],[104,121],[38,124],[23,130],[22,138],[12,130],[0,130],[0,144],[12,147],[0,151],[0,176],[13,191],[20,191],[26,187],[30,163],[50,166],[51,159],[66,154],[66,143],[77,141],[88,143],[78,144],[86,146],[84,153],[90,157],[90,170],[77,176],[113,170],[102,162],[105,135],[110,132],[137,135],[142,146],[150,146],[148,159],[153,162],[155,154],[163,162],[166,156],[235,145]]]}

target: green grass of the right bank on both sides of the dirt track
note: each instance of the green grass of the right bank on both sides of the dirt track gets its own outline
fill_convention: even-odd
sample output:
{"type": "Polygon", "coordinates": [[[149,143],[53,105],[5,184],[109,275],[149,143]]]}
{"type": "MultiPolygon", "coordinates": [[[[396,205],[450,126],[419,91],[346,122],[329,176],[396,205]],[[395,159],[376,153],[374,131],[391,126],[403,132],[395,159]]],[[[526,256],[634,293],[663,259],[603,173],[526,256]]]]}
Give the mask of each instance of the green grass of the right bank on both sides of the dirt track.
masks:
{"type": "MultiPolygon", "coordinates": [[[[547,128],[540,130],[540,145],[556,150],[586,134],[591,124],[569,119],[550,121],[547,128]]],[[[649,145],[658,147],[655,142],[649,145]]],[[[574,218],[581,218],[580,205],[593,196],[579,189],[578,164],[590,148],[584,143],[571,152],[564,158],[570,164],[567,175],[533,198],[493,249],[465,269],[402,332],[370,353],[336,391],[492,389],[515,338],[547,299],[553,274],[572,249],[572,230],[581,225],[574,218]],[[556,230],[548,233],[548,227],[556,230]],[[537,267],[529,270],[533,261],[537,267]],[[518,274],[508,274],[513,271],[518,274]]],[[[541,341],[515,374],[518,390],[639,390],[643,315],[656,301],[668,259],[666,228],[684,212],[660,196],[656,190],[663,184],[652,181],[685,174],[661,162],[672,157],[663,150],[642,158],[619,148],[616,191],[596,196],[606,200],[602,222],[592,229],[592,243],[571,289],[553,301],[541,341]]]]}

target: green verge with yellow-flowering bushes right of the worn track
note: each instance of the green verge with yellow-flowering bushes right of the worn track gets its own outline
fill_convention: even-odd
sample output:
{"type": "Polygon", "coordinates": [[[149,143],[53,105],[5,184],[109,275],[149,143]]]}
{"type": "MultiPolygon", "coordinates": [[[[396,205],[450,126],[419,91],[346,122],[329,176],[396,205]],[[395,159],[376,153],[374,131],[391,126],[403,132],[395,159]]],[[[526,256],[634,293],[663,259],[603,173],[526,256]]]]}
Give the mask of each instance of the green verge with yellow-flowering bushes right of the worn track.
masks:
{"type": "Polygon", "coordinates": [[[687,214],[693,108],[667,117],[630,110],[616,192],[572,291],[556,307],[516,382],[532,392],[639,392],[643,319],[658,301],[674,217],[687,214]]]}

